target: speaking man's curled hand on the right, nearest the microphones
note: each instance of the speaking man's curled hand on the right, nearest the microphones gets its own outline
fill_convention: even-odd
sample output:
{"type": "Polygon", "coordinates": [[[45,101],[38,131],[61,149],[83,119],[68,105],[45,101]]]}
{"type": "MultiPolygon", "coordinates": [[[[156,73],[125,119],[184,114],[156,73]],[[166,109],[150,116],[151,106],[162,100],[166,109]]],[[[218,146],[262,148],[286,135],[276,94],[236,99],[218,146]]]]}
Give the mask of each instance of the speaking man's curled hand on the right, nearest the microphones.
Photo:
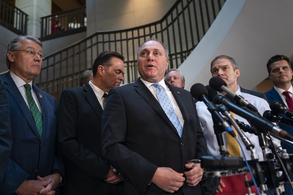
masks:
{"type": "Polygon", "coordinates": [[[201,181],[203,175],[203,169],[200,166],[200,163],[189,162],[185,164],[185,167],[190,169],[189,171],[184,172],[186,175],[186,183],[189,186],[195,186],[201,181]]]}

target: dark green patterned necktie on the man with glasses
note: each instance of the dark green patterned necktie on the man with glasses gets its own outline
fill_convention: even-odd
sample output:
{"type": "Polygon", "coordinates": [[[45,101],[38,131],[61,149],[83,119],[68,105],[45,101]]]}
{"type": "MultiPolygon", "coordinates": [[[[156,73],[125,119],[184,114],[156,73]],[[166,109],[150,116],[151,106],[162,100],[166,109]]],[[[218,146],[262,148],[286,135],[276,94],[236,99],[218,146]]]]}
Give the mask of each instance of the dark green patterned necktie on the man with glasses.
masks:
{"type": "Polygon", "coordinates": [[[31,85],[30,84],[25,84],[24,85],[25,89],[26,89],[26,95],[27,95],[27,99],[28,99],[28,103],[29,103],[29,107],[30,110],[32,112],[33,118],[35,120],[38,132],[42,138],[42,132],[43,132],[43,121],[42,121],[42,115],[41,112],[39,111],[33,96],[32,96],[32,92],[31,92],[31,85]]]}

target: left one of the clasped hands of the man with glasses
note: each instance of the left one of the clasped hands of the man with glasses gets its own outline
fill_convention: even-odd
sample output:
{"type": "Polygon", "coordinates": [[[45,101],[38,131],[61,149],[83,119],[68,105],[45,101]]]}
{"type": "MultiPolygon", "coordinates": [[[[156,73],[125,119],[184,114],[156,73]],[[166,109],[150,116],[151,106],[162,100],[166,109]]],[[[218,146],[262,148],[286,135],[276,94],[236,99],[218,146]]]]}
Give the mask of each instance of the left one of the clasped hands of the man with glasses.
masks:
{"type": "MultiPolygon", "coordinates": [[[[45,188],[52,179],[47,180],[24,180],[24,182],[15,191],[16,194],[27,195],[27,194],[39,194],[39,192],[45,188]]],[[[54,192],[55,193],[55,192],[54,192]]],[[[51,194],[54,194],[51,193],[51,194]]]]}

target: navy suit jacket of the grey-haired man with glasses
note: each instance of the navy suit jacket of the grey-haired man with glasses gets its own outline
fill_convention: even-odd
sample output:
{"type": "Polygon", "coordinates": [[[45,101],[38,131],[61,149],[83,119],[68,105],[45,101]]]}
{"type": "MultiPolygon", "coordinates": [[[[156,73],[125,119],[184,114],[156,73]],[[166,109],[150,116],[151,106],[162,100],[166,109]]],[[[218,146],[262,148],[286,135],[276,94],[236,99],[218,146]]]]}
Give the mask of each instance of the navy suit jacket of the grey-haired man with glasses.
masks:
{"type": "MultiPolygon", "coordinates": [[[[43,134],[38,133],[30,109],[25,103],[10,72],[3,76],[7,92],[13,145],[9,162],[0,177],[0,194],[13,194],[25,179],[36,179],[63,172],[56,152],[57,103],[53,96],[33,85],[42,109],[43,134]]],[[[57,193],[58,194],[58,193],[57,193]]]]}

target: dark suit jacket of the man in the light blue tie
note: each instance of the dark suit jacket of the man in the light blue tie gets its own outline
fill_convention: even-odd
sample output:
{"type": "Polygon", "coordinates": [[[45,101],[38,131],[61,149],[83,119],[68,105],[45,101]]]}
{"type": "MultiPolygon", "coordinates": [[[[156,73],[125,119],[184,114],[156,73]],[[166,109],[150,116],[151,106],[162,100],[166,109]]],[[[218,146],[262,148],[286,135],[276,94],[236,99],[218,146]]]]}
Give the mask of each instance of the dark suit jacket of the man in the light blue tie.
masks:
{"type": "MultiPolygon", "coordinates": [[[[207,155],[190,92],[166,84],[183,115],[181,138],[140,78],[109,92],[103,113],[102,154],[126,179],[124,194],[169,194],[154,183],[149,185],[157,168],[183,172],[187,160],[207,155]]],[[[185,183],[177,194],[204,194],[202,182],[195,187],[185,183]]]]}

